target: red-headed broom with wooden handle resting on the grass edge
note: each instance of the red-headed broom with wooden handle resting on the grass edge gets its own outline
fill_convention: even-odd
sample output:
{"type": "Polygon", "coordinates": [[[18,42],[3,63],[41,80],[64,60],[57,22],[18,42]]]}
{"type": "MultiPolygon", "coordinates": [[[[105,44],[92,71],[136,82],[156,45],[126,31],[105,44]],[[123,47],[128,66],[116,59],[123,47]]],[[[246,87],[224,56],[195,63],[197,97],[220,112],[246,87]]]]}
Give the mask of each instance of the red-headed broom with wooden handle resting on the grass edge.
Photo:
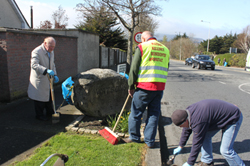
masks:
{"type": "Polygon", "coordinates": [[[116,135],[116,134],[114,133],[114,131],[115,131],[115,129],[116,129],[116,126],[117,126],[117,124],[118,124],[118,122],[119,122],[121,116],[122,116],[122,113],[123,113],[124,108],[125,108],[125,106],[126,106],[126,104],[127,104],[127,102],[128,102],[128,99],[129,99],[129,94],[128,94],[128,97],[127,97],[127,99],[126,99],[126,101],[125,101],[123,107],[122,107],[122,110],[121,110],[121,112],[120,112],[120,115],[119,115],[119,117],[118,117],[116,123],[115,123],[115,126],[114,126],[113,130],[110,130],[108,127],[105,127],[104,129],[99,130],[99,133],[101,134],[101,136],[103,136],[108,142],[110,142],[110,143],[113,144],[113,145],[116,145],[116,144],[118,143],[118,141],[119,141],[119,136],[116,135]]]}

